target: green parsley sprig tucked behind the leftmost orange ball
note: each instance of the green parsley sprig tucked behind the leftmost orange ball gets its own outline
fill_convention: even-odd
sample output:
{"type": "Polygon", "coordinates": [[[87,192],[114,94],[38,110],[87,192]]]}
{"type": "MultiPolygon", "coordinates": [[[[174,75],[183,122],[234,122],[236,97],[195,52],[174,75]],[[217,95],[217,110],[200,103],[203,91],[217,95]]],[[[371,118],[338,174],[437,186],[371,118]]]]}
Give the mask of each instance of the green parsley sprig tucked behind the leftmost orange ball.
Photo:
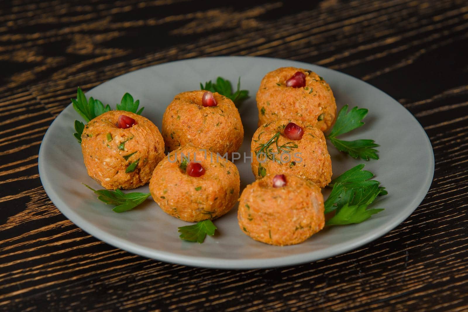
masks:
{"type": "MultiPolygon", "coordinates": [[[[86,96],[80,87],[78,87],[76,92],[76,99],[71,100],[75,111],[79,113],[86,122],[89,122],[97,116],[110,111],[109,104],[104,106],[100,100],[93,99],[93,97],[86,99],[86,96]]],[[[140,101],[138,99],[133,101],[133,97],[130,95],[130,93],[125,93],[120,101],[120,104],[117,103],[116,109],[140,115],[145,107],[141,107],[140,110],[138,110],[139,103],[140,101]]],[[[74,126],[76,133],[73,135],[75,136],[78,143],[81,144],[81,134],[83,133],[85,124],[81,121],[75,120],[74,126]]]]}

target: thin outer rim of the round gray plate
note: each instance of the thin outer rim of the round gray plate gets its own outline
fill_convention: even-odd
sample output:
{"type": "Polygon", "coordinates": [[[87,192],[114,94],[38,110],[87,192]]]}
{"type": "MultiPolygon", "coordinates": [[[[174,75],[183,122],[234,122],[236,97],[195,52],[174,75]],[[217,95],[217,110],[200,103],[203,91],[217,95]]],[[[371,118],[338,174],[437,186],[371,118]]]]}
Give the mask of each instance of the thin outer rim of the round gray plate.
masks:
{"type": "MultiPolygon", "coordinates": [[[[117,77],[111,78],[102,84],[96,85],[92,89],[88,90],[88,92],[91,92],[95,88],[102,86],[104,84],[110,83],[112,80],[122,77],[124,75],[128,75],[131,73],[134,73],[136,71],[141,71],[145,70],[150,67],[155,67],[159,66],[162,64],[174,64],[174,63],[179,63],[179,62],[187,62],[187,61],[196,61],[199,59],[220,59],[220,58],[236,58],[236,59],[245,59],[245,58],[255,58],[259,61],[262,59],[268,59],[268,60],[277,60],[277,61],[292,61],[292,62],[297,62],[301,64],[309,64],[309,65],[314,65],[320,68],[324,68],[330,71],[335,71],[341,75],[347,76],[349,79],[357,79],[360,82],[365,83],[369,87],[376,89],[378,92],[381,92],[385,94],[388,98],[394,100],[398,105],[402,106],[412,117],[412,119],[417,123],[419,128],[423,131],[424,133],[424,139],[425,143],[428,144],[430,148],[430,157],[429,157],[429,162],[430,162],[430,168],[429,170],[429,175],[426,177],[426,180],[422,185],[424,187],[422,190],[424,192],[421,192],[418,197],[415,197],[412,199],[412,201],[408,204],[408,206],[414,206],[414,208],[409,209],[408,211],[403,211],[402,213],[399,213],[395,215],[393,218],[388,220],[385,224],[382,224],[379,227],[376,227],[373,229],[371,233],[369,233],[365,238],[362,239],[356,239],[351,242],[343,242],[340,244],[334,244],[329,247],[323,248],[321,250],[320,255],[313,256],[316,254],[316,251],[311,251],[311,252],[306,252],[302,253],[301,259],[298,261],[297,256],[298,255],[287,255],[287,256],[279,256],[279,257],[274,257],[274,258],[258,258],[258,259],[219,259],[219,258],[211,258],[211,257],[201,257],[201,256],[193,256],[193,255],[180,255],[178,253],[172,253],[172,252],[167,252],[167,251],[161,251],[157,250],[154,248],[148,248],[142,245],[139,245],[137,243],[134,243],[132,241],[128,241],[123,238],[117,238],[116,236],[112,234],[108,234],[107,232],[103,231],[99,227],[91,226],[86,220],[80,217],[77,213],[74,213],[72,209],[67,209],[67,204],[62,201],[59,196],[57,196],[56,191],[54,191],[51,183],[49,182],[49,179],[47,179],[47,170],[45,169],[45,161],[44,161],[44,142],[47,142],[50,140],[49,136],[51,135],[50,129],[52,128],[52,125],[54,122],[57,121],[58,117],[60,116],[63,111],[72,105],[71,103],[66,106],[51,122],[49,128],[47,129],[41,145],[39,147],[39,153],[38,153],[38,169],[39,169],[39,178],[41,180],[41,183],[44,187],[44,191],[46,192],[47,196],[51,199],[52,203],[59,209],[61,213],[63,213],[67,219],[72,221],[76,226],[80,227],[83,231],[86,233],[94,236],[95,238],[110,244],[113,247],[120,248],[123,250],[126,250],[128,252],[131,252],[136,255],[141,255],[145,256],[147,258],[155,259],[158,261],[163,261],[163,262],[169,262],[169,263],[174,263],[174,264],[180,264],[180,265],[187,265],[187,266],[192,266],[192,267],[202,267],[202,268],[210,268],[210,269],[266,269],[266,268],[273,268],[273,267],[284,267],[284,266],[292,266],[292,265],[299,265],[303,263],[308,263],[308,262],[314,262],[317,260],[329,258],[331,256],[335,255],[342,255],[345,254],[346,252],[362,247],[366,245],[367,243],[374,241],[391,230],[393,230],[395,227],[399,226],[404,220],[406,220],[411,213],[413,213],[418,206],[421,204],[421,202],[424,200],[424,198],[427,195],[427,192],[431,188],[431,184],[433,181],[434,177],[434,167],[435,167],[435,160],[434,160],[434,151],[432,149],[432,144],[431,141],[427,135],[427,133],[424,131],[424,128],[422,125],[419,123],[419,121],[416,119],[416,117],[406,108],[404,107],[401,103],[399,103],[397,100],[392,98],[390,95],[388,95],[386,92],[383,92],[379,88],[369,84],[368,82],[361,80],[359,78],[353,77],[349,74],[346,74],[341,71],[336,71],[334,69],[326,68],[324,66],[316,65],[316,64],[310,64],[306,62],[301,62],[301,61],[296,61],[296,60],[288,60],[288,59],[282,59],[282,58],[274,58],[274,57],[251,57],[251,56],[220,56],[220,57],[197,57],[197,58],[188,58],[188,59],[183,59],[183,60],[176,60],[172,62],[167,62],[167,63],[160,63],[160,64],[154,64],[150,66],[146,66],[143,68],[139,68],[134,71],[129,71],[126,72],[122,75],[119,75],[117,77]],[[312,254],[312,255],[311,255],[312,254]]],[[[86,93],[88,93],[86,92],[86,93]]],[[[85,94],[86,94],[85,93],[85,94]]],[[[348,225],[349,227],[352,227],[352,225],[348,225]]]]}

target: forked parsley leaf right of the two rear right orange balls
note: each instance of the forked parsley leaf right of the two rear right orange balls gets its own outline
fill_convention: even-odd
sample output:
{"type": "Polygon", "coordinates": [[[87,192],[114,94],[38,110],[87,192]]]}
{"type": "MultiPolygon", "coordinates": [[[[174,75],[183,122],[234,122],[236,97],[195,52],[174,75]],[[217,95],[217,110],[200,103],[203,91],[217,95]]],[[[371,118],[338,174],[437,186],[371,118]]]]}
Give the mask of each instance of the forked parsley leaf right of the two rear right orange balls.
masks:
{"type": "Polygon", "coordinates": [[[336,122],[327,138],[339,150],[348,153],[353,158],[362,158],[364,160],[379,159],[378,150],[375,147],[380,146],[373,140],[355,140],[343,141],[336,138],[338,135],[345,134],[364,125],[361,120],[366,117],[368,110],[366,108],[352,108],[348,112],[348,106],[345,105],[338,113],[336,122]]]}

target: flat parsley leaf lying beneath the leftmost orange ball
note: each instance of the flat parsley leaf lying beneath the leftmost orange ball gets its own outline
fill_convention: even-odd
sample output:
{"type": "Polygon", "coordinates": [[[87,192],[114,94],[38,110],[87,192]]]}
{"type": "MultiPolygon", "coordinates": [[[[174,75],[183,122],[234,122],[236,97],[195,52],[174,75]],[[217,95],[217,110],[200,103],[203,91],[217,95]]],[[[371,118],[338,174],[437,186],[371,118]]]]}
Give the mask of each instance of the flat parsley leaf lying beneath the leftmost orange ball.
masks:
{"type": "Polygon", "coordinates": [[[123,213],[128,210],[132,210],[136,206],[143,203],[151,194],[150,193],[139,193],[139,192],[131,192],[131,193],[124,193],[119,189],[115,191],[109,190],[95,190],[92,187],[83,184],[91,191],[94,191],[97,195],[97,199],[101,200],[102,202],[108,205],[114,205],[115,207],[112,209],[116,213],[123,213]]]}

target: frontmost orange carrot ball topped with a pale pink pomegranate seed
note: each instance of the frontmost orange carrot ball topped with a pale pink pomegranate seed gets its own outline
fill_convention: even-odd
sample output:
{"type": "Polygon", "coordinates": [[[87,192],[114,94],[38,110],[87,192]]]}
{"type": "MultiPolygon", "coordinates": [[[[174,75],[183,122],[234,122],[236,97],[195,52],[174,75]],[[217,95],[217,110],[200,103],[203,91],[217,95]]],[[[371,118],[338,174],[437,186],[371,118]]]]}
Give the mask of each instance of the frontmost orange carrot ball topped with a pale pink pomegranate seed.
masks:
{"type": "Polygon", "coordinates": [[[242,232],[256,241],[298,244],[323,228],[323,196],[311,181],[271,174],[242,191],[237,219],[242,232]]]}

